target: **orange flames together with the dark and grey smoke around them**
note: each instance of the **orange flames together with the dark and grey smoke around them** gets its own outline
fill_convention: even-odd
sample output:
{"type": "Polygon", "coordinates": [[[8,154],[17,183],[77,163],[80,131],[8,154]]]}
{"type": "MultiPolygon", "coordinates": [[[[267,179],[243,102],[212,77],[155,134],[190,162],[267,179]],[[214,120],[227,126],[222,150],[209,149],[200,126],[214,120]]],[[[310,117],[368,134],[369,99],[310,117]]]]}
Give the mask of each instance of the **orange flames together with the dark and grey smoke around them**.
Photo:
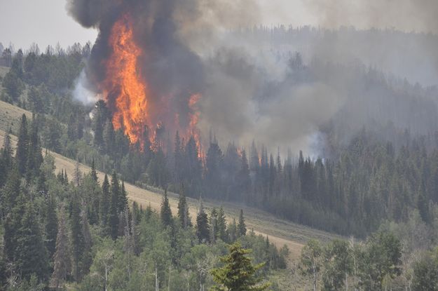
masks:
{"type": "MultiPolygon", "coordinates": [[[[336,33],[329,31],[306,38],[306,29],[280,27],[268,32],[273,36],[270,41],[264,29],[245,32],[261,18],[256,1],[71,0],[67,8],[81,25],[99,30],[78,86],[104,99],[114,128],[122,128],[132,143],[141,145],[145,138],[164,145],[163,139],[179,131],[186,140],[195,137],[198,147],[208,147],[213,132],[222,142],[233,140],[242,147],[256,140],[271,150],[280,147],[283,154],[287,148],[322,154],[326,139],[322,126],[344,114],[345,107],[364,112],[357,108],[364,104],[351,100],[367,95],[367,89],[354,92],[350,85],[356,81],[348,70],[364,70],[357,57],[367,65],[378,62],[362,50],[336,55],[341,43],[354,37],[336,42],[336,33]],[[283,38],[295,35],[294,43],[279,41],[279,32],[285,34],[283,38]],[[294,50],[301,55],[288,64],[294,50]],[[330,63],[318,62],[321,59],[344,67],[329,70],[330,63]],[[306,81],[297,81],[297,76],[306,81]]],[[[375,37],[364,39],[372,42],[375,37]]],[[[352,43],[357,41],[347,46],[352,43]]],[[[433,43],[421,47],[428,50],[433,43]]],[[[403,72],[395,63],[384,62],[381,69],[403,72]]],[[[404,72],[411,72],[408,69],[404,72]]],[[[427,69],[430,76],[435,69],[427,69]]],[[[387,94],[382,91],[385,88],[378,94],[387,94]]],[[[374,106],[369,103],[365,109],[374,106]]],[[[359,114],[348,133],[340,134],[348,140],[363,123],[376,118],[397,123],[373,114],[359,114]]],[[[410,124],[400,129],[406,127],[425,133],[410,124]]]]}

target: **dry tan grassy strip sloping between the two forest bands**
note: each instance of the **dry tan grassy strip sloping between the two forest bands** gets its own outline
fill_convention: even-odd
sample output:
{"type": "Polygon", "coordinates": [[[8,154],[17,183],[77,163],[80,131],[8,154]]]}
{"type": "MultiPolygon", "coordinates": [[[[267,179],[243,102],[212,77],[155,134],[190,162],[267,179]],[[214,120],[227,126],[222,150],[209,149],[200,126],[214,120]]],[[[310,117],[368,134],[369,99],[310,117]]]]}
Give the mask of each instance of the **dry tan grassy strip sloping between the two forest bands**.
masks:
{"type": "MultiPolygon", "coordinates": [[[[5,135],[5,130],[10,126],[15,132],[15,127],[19,124],[19,119],[22,114],[27,116],[32,116],[29,111],[15,107],[11,104],[0,101],[0,144],[3,144],[3,139],[5,135]]],[[[16,137],[13,136],[12,140],[16,142],[16,137]]],[[[74,172],[76,162],[56,154],[54,152],[50,153],[55,158],[55,166],[57,170],[67,170],[67,174],[71,177],[74,172]]],[[[79,168],[81,172],[90,171],[90,167],[87,165],[80,164],[79,168]]],[[[103,180],[104,173],[98,172],[100,181],[103,180]]],[[[151,205],[152,208],[159,210],[162,194],[160,194],[159,189],[142,189],[136,187],[133,184],[125,183],[126,190],[128,191],[128,196],[131,201],[137,201],[143,207],[151,205]]],[[[170,193],[170,205],[172,212],[175,214],[177,212],[177,194],[170,193]]],[[[198,208],[198,201],[193,198],[187,198],[190,207],[190,216],[194,221],[196,218],[196,209],[198,208]]],[[[233,205],[232,203],[220,203],[218,201],[203,201],[207,209],[213,207],[224,206],[227,218],[229,220],[238,218],[238,212],[240,208],[243,209],[245,213],[245,218],[247,222],[248,229],[254,229],[256,234],[262,234],[263,236],[269,236],[269,240],[275,243],[278,247],[282,245],[287,245],[291,251],[291,259],[296,259],[299,257],[301,248],[306,241],[310,238],[316,238],[321,241],[329,241],[335,236],[324,231],[318,231],[315,229],[310,229],[306,226],[301,226],[299,224],[294,224],[292,222],[287,222],[282,219],[273,217],[273,215],[268,214],[262,210],[256,210],[254,208],[249,208],[245,206],[233,205]]],[[[207,212],[210,212],[207,210],[207,212]]]]}

